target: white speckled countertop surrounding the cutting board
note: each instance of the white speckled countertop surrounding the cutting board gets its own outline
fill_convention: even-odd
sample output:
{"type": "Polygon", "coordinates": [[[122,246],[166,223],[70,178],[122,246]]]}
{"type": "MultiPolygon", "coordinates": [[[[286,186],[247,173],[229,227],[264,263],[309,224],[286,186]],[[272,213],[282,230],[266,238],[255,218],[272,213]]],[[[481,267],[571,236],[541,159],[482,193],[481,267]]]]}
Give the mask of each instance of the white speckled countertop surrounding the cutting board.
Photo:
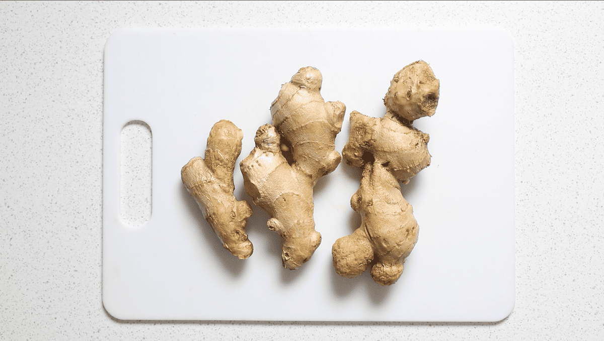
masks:
{"type": "Polygon", "coordinates": [[[604,339],[603,19],[600,2],[0,2],[0,339],[604,339]],[[497,27],[515,43],[508,318],[121,322],[103,310],[103,47],[114,30],[418,26],[497,27]]]}

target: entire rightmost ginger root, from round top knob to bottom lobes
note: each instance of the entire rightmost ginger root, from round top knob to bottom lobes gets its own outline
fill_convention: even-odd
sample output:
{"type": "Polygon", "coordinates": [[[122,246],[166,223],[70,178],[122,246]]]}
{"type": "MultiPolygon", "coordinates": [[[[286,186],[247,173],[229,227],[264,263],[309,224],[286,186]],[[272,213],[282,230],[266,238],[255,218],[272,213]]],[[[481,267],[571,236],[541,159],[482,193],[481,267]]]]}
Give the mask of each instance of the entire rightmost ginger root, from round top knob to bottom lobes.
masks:
{"type": "Polygon", "coordinates": [[[362,274],[374,258],[371,277],[376,283],[388,286],[402,274],[419,227],[398,181],[409,183],[430,164],[429,136],[412,124],[434,114],[439,87],[428,64],[416,61],[394,75],[384,98],[384,117],[350,114],[342,155],[347,164],[363,169],[361,187],[350,202],[361,214],[361,227],[333,244],[333,265],[342,277],[362,274]]]}

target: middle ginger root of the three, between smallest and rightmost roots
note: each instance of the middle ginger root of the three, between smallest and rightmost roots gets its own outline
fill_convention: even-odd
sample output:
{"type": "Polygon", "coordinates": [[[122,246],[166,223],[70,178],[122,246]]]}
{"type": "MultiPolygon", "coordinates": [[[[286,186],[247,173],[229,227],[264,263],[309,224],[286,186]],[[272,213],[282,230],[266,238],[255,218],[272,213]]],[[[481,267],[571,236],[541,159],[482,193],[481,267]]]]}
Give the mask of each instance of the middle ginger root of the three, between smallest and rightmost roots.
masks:
{"type": "Polygon", "coordinates": [[[321,243],[313,219],[313,187],[341,157],[334,140],[344,119],[342,102],[324,102],[321,72],[303,67],[281,87],[271,105],[274,125],[263,125],[255,148],[241,163],[245,190],[269,213],[266,223],[283,239],[287,269],[306,263],[321,243]],[[291,148],[289,164],[281,150],[291,148]]]}

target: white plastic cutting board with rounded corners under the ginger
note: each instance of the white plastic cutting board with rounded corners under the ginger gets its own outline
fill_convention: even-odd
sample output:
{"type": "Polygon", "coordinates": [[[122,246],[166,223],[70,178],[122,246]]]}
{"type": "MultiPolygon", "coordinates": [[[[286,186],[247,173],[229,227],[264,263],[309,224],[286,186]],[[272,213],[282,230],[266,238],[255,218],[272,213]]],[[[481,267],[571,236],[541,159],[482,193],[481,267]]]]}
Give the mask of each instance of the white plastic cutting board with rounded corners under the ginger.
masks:
{"type": "MultiPolygon", "coordinates": [[[[499,321],[514,304],[513,46],[492,30],[119,30],[104,55],[103,304],[118,319],[277,321],[499,321]],[[381,117],[393,75],[416,60],[440,79],[430,134],[432,164],[403,195],[419,241],[392,286],[368,272],[339,277],[331,248],[360,223],[350,208],[358,170],[342,163],[315,187],[323,242],[297,271],[281,267],[280,239],[252,204],[254,254],[222,248],[181,183],[203,156],[212,125],[243,130],[243,151],[281,84],[300,67],[323,73],[326,101],[381,117]],[[120,216],[120,132],[152,131],[152,214],[141,227],[120,216]]],[[[235,195],[247,199],[236,167],[235,195]]]]}

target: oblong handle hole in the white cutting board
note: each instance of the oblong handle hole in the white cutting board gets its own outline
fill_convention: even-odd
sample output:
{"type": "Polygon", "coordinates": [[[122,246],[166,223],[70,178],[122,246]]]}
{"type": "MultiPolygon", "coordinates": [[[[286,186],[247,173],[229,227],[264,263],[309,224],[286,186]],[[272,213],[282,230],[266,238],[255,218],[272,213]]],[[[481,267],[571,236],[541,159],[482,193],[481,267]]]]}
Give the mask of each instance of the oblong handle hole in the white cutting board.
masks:
{"type": "Polygon", "coordinates": [[[141,120],[128,122],[120,133],[120,216],[129,227],[149,221],[152,210],[151,128],[141,120]]]}

